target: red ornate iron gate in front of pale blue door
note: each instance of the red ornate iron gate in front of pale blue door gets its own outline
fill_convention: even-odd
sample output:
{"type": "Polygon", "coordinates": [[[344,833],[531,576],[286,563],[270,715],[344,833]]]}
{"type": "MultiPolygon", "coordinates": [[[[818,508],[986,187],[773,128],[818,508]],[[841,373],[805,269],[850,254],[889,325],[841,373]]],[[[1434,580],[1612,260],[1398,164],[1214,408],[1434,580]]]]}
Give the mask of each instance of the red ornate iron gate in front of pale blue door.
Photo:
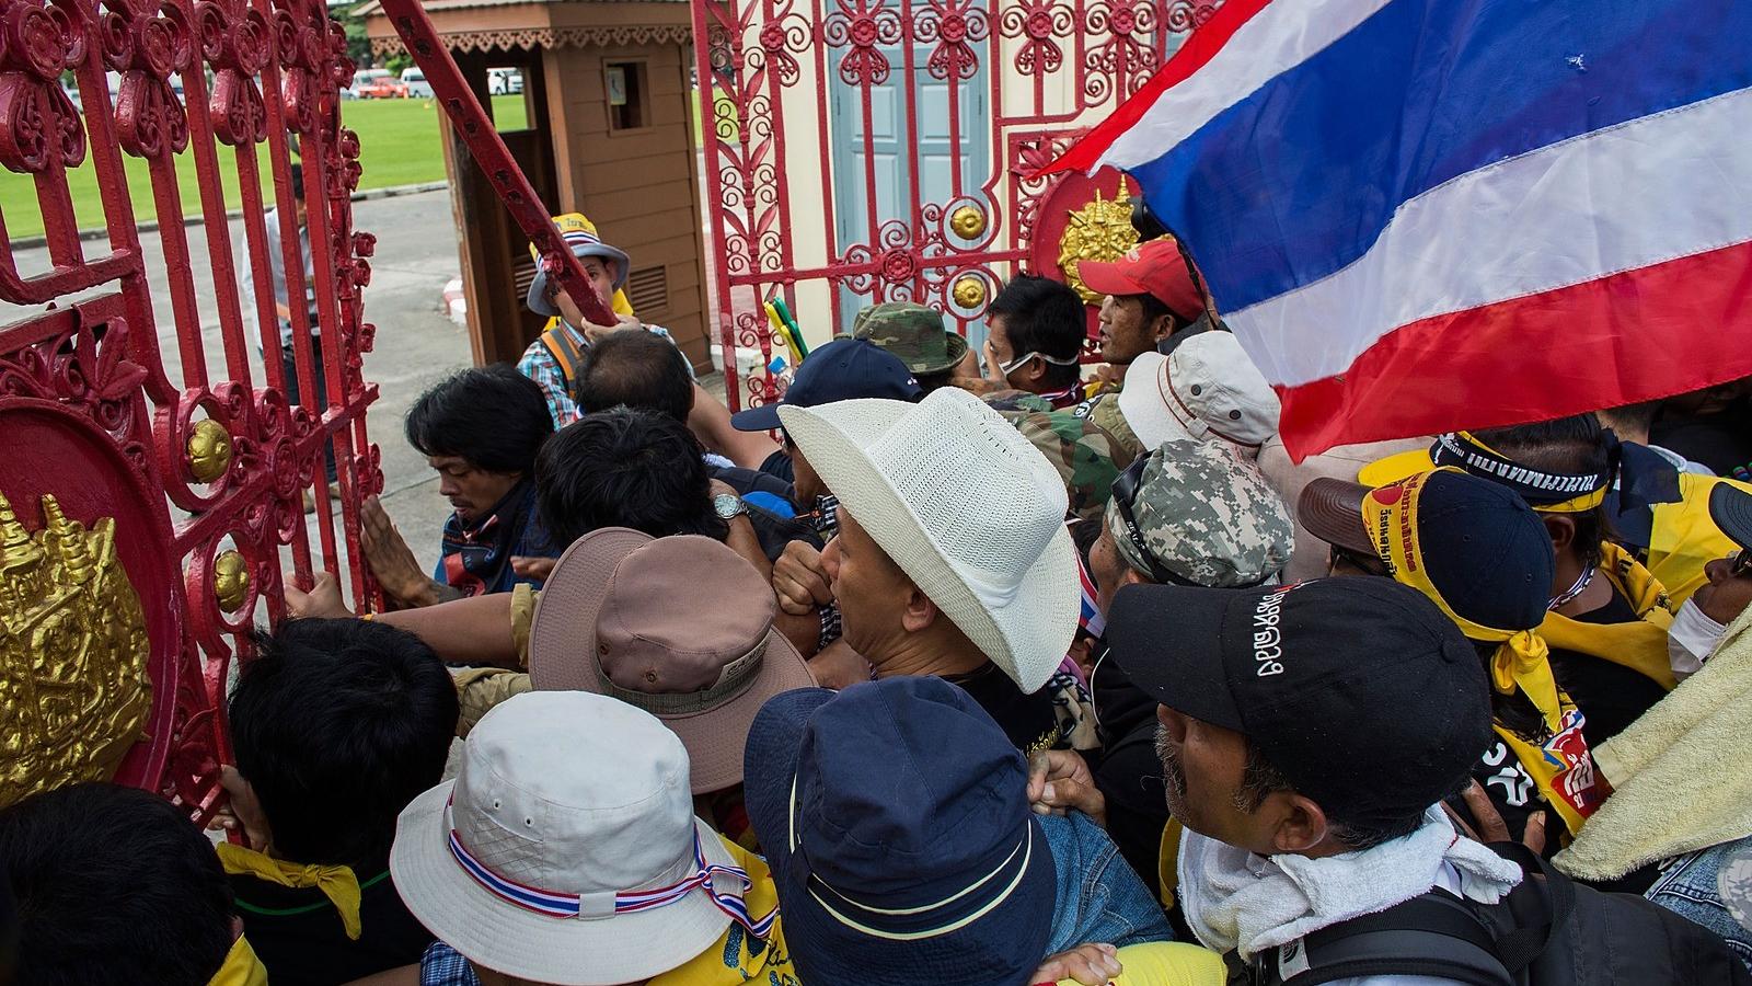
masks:
{"type": "Polygon", "coordinates": [[[1032,175],[1148,81],[1219,5],[696,2],[731,402],[774,397],[766,374],[736,382],[738,347],[757,347],[762,367],[773,354],[760,302],[783,298],[804,321],[827,318],[843,332],[853,314],[848,302],[916,300],[965,333],[1004,267],[1081,286],[1079,256],[1130,246],[1118,228],[1128,216],[1121,179],[1032,175]],[[897,139],[880,149],[887,119],[897,139]],[[925,160],[934,133],[946,163],[925,160]],[[844,167],[848,156],[857,167],[844,167]],[[888,188],[878,179],[885,156],[881,167],[904,177],[888,188]],[[937,193],[927,181],[932,167],[948,172],[937,193]],[[885,196],[899,202],[883,207],[885,196]],[[848,211],[864,214],[846,223],[848,211]]]}

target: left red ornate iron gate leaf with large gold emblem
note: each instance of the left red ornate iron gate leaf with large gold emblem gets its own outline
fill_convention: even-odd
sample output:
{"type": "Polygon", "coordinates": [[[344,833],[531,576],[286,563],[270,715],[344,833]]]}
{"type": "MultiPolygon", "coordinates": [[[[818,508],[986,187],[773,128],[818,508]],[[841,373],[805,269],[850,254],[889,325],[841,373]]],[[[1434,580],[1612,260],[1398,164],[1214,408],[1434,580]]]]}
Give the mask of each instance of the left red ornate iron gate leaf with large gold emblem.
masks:
{"type": "Polygon", "coordinates": [[[251,626],[280,618],[282,551],[305,586],[345,565],[354,600],[375,593],[357,551],[357,504],[382,474],[364,432],[377,389],[361,377],[373,328],[359,291],[373,237],[352,228],[359,140],[338,98],[350,77],[321,0],[0,0],[0,165],[35,184],[47,251],[47,270],[21,272],[28,249],[5,235],[16,216],[0,216],[0,302],[23,307],[0,316],[12,319],[0,328],[0,714],[14,726],[0,802],[114,770],[208,814],[226,677],[251,626]],[[291,405],[268,258],[284,263],[287,298],[305,297],[305,263],[293,223],[270,240],[261,186],[272,175],[272,205],[293,214],[294,153],[317,318],[289,305],[307,395],[291,405]],[[163,270],[142,249],[124,154],[151,175],[163,270]],[[186,158],[194,188],[177,177],[186,158]],[[75,226],[68,168],[82,165],[96,174],[102,246],[75,226]],[[240,186],[252,309],[223,174],[240,186]],[[172,326],[154,321],[152,281],[172,326]],[[201,298],[217,309],[215,367],[201,298]],[[308,400],[319,381],[326,402],[308,400]]]}

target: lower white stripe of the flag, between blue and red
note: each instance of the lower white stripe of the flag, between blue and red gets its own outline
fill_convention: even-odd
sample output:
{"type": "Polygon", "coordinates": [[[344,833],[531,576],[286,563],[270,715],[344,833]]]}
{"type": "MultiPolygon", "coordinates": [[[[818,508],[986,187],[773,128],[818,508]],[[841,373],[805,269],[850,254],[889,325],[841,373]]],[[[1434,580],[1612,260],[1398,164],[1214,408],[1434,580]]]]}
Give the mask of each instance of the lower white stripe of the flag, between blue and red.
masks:
{"type": "Polygon", "coordinates": [[[1225,319],[1265,379],[1300,386],[1402,325],[1752,240],[1748,133],[1736,89],[1496,161],[1402,205],[1344,270],[1225,319]]]}

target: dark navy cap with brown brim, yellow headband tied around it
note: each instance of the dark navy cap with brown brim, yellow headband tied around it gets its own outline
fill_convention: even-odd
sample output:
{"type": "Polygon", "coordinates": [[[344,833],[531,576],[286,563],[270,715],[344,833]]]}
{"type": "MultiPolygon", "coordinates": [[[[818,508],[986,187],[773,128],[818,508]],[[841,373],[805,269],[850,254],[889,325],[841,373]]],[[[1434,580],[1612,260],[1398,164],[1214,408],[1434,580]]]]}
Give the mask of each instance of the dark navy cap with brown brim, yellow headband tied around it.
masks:
{"type": "MultiPolygon", "coordinates": [[[[1363,521],[1370,497],[1398,502],[1409,493],[1405,481],[1374,491],[1323,475],[1302,488],[1296,519],[1328,544],[1381,558],[1363,521]]],[[[1500,630],[1535,630],[1545,621],[1556,558],[1545,521],[1526,500],[1489,479],[1444,468],[1423,477],[1416,507],[1417,561],[1454,614],[1500,630]]]]}

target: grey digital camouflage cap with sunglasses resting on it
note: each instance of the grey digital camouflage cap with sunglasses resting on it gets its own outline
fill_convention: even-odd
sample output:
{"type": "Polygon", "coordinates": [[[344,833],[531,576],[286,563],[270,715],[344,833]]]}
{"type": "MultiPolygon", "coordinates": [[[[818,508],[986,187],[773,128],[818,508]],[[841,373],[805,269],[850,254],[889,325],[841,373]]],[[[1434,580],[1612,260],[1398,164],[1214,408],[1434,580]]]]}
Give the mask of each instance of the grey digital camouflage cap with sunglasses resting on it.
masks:
{"type": "MultiPolygon", "coordinates": [[[[1221,442],[1163,442],[1149,453],[1132,518],[1156,563],[1195,586],[1258,584],[1282,570],[1295,539],[1282,498],[1221,442]]],[[[1107,504],[1107,528],[1125,563],[1149,572],[1118,500],[1107,504]]]]}

